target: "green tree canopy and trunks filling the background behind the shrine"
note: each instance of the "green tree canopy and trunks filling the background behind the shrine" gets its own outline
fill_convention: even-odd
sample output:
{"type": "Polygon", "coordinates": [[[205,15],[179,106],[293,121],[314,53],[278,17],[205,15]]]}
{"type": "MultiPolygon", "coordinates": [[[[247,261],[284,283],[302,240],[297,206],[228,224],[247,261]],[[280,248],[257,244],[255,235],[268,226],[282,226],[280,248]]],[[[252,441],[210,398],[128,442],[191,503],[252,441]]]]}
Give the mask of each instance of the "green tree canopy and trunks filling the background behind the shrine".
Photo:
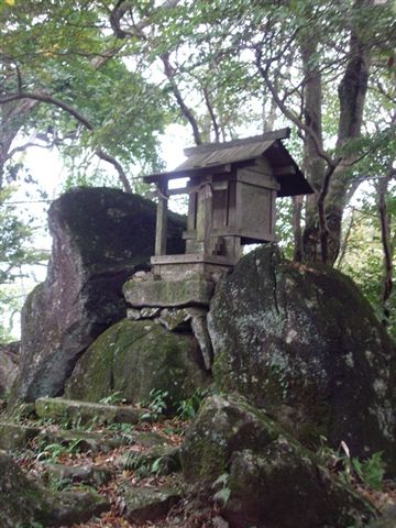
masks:
{"type": "Polygon", "coordinates": [[[290,125],[315,195],[279,204],[282,245],[352,275],[396,332],[394,0],[0,0],[0,32],[4,243],[28,238],[4,198],[26,148],[58,151],[70,184],[108,164],[143,191],[170,123],[186,146],[290,125]]]}

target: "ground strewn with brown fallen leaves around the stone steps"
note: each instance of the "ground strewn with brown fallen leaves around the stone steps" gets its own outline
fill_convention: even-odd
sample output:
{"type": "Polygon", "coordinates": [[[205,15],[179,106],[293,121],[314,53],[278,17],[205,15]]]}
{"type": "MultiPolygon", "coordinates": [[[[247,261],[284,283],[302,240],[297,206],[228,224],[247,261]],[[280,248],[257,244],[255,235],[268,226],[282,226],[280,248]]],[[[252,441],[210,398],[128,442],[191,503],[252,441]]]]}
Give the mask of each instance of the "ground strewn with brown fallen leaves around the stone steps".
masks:
{"type": "MultiPolygon", "coordinates": [[[[0,417],[1,418],[1,417],[0,417]]],[[[24,425],[37,425],[36,421],[24,420],[24,425]]],[[[164,444],[168,447],[178,448],[183,443],[185,431],[187,430],[189,421],[182,419],[166,419],[160,417],[155,422],[141,422],[136,426],[122,426],[122,435],[128,440],[128,435],[153,433],[164,440],[164,444]]],[[[59,430],[59,426],[55,424],[43,424],[46,430],[59,430]]],[[[96,427],[95,431],[101,432],[103,436],[108,435],[109,428],[96,427]]],[[[121,431],[121,429],[120,429],[121,431]]],[[[119,431],[119,432],[120,432],[119,431]]],[[[117,432],[114,429],[112,433],[117,432]]],[[[62,446],[40,444],[36,440],[31,441],[30,446],[23,450],[15,450],[12,457],[19,465],[32,479],[45,483],[53,491],[62,490],[87,490],[85,484],[68,483],[48,483],[45,480],[45,472],[47,464],[62,464],[64,466],[85,468],[98,466],[106,468],[111,472],[111,479],[103,485],[96,486],[96,490],[110,502],[111,508],[109,512],[102,514],[100,517],[91,518],[84,524],[75,524],[73,528],[141,528],[156,527],[156,528],[227,528],[228,524],[222,519],[216,504],[204,493],[188,492],[183,488],[182,479],[178,473],[170,473],[160,475],[155,471],[155,464],[152,468],[134,468],[125,469],[120,466],[122,458],[144,454],[150,451],[150,447],[140,443],[139,441],[128,442],[106,452],[79,452],[78,446],[62,446]],[[142,469],[144,471],[142,471],[142,469]],[[65,486],[65,487],[64,487],[65,486]],[[133,524],[125,519],[125,502],[122,491],[133,487],[179,487],[184,490],[183,498],[169,510],[168,515],[155,521],[146,521],[144,524],[133,524]]],[[[353,473],[351,468],[348,469],[344,460],[337,455],[328,457],[328,468],[334,473],[339,473],[341,477],[348,479],[350,484],[363,494],[377,509],[384,510],[386,507],[396,505],[396,482],[385,480],[382,490],[374,490],[367,483],[362,482],[353,473]]],[[[201,491],[202,492],[202,491],[201,491]]],[[[297,528],[297,527],[296,527],[297,528]]]]}

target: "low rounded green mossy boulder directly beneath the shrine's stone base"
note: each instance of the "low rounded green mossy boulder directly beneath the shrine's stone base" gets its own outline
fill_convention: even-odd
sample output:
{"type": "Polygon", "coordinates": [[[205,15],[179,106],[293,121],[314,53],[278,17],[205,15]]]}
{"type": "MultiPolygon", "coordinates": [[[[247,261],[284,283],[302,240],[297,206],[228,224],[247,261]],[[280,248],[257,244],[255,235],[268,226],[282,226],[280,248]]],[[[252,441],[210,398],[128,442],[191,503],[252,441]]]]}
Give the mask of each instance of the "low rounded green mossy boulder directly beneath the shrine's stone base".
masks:
{"type": "MultiPolygon", "coordinates": [[[[111,396],[146,403],[152,391],[168,393],[169,409],[208,383],[191,336],[153,321],[124,319],[103,332],[79,360],[67,397],[99,402],[111,396]]],[[[175,407],[174,407],[175,408],[175,407]]]]}

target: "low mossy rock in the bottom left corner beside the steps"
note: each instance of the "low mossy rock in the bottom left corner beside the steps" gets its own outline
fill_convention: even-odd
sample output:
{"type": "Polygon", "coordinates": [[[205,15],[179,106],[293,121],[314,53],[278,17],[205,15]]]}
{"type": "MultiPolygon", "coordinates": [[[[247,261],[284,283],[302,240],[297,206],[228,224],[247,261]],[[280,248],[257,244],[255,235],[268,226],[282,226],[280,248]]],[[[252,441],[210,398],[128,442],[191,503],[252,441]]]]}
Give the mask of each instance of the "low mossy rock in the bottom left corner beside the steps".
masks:
{"type": "Polygon", "coordinates": [[[38,486],[0,451],[1,528],[72,526],[109,508],[107,499],[92,492],[54,493],[38,486]]]}

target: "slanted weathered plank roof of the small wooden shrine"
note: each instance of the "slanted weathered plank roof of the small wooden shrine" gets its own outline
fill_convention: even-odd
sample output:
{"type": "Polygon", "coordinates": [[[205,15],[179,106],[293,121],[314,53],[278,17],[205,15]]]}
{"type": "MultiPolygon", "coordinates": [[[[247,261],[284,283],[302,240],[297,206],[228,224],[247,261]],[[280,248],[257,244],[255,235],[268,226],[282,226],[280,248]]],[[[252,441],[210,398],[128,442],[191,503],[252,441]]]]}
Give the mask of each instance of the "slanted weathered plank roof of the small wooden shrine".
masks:
{"type": "Polygon", "coordinates": [[[145,176],[146,183],[161,183],[165,178],[220,175],[232,168],[249,167],[265,157],[280,185],[278,196],[307,195],[314,193],[296,162],[283,145],[289,129],[224,143],[209,143],[185,148],[187,160],[174,170],[145,176]]]}

